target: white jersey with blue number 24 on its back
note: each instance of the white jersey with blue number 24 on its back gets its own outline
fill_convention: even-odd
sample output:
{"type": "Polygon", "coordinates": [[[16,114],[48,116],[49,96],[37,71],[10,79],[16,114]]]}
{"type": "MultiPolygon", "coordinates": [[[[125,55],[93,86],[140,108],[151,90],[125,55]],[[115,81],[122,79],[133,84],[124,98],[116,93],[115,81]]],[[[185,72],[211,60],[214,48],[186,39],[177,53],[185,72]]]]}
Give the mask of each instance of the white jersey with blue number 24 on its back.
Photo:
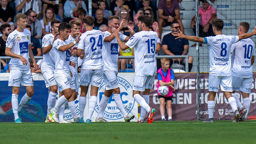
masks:
{"type": "Polygon", "coordinates": [[[84,60],[81,69],[101,69],[102,32],[89,30],[80,36],[78,49],[84,50],[84,60]]]}

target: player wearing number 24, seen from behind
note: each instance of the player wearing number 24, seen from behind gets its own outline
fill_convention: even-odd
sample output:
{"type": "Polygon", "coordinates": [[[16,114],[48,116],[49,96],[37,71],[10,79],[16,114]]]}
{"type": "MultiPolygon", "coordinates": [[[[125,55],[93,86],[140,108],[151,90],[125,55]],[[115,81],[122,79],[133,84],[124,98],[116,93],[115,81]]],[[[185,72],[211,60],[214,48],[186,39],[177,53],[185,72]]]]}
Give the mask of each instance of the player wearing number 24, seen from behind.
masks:
{"type": "Polygon", "coordinates": [[[102,32],[93,29],[94,18],[87,16],[83,19],[85,33],[81,36],[81,41],[78,43],[76,56],[79,57],[84,51],[84,59],[81,67],[80,88],[81,94],[79,97],[80,123],[84,122],[84,108],[86,104],[86,94],[89,84],[91,84],[91,99],[89,101],[89,112],[86,123],[92,123],[92,114],[97,104],[97,95],[100,83],[103,77],[102,59],[102,32]]]}

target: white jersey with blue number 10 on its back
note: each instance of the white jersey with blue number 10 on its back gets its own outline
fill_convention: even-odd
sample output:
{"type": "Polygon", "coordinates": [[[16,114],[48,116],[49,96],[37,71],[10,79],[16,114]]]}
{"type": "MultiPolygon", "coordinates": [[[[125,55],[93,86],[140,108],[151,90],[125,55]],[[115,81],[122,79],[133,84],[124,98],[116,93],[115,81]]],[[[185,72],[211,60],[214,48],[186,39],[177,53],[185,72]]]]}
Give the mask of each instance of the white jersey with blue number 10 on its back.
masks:
{"type": "Polygon", "coordinates": [[[251,38],[242,39],[232,44],[232,76],[252,77],[252,55],[255,55],[255,45],[251,38]]]}

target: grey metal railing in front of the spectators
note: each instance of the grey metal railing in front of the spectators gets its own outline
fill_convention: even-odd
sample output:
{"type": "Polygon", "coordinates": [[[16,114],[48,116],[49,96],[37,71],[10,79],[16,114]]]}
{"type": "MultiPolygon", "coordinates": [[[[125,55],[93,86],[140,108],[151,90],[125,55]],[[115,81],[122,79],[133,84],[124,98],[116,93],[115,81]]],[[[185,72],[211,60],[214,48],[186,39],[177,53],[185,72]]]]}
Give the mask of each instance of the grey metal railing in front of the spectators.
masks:
{"type": "MultiPolygon", "coordinates": [[[[156,55],[156,59],[161,59],[161,58],[168,58],[168,59],[185,59],[185,71],[188,72],[188,55],[156,55]]],[[[0,61],[1,60],[9,60],[11,57],[9,56],[0,56],[0,61]]],[[[35,59],[43,59],[43,56],[35,56],[35,59]]],[[[127,59],[126,60],[126,68],[128,68],[128,59],[134,59],[134,56],[118,56],[118,59],[127,59]]],[[[174,64],[174,61],[173,61],[174,64]]],[[[181,64],[181,62],[179,62],[181,64]]],[[[1,70],[1,65],[2,63],[0,62],[0,72],[1,70]]],[[[134,66],[133,66],[134,67],[134,66]]],[[[122,63],[120,65],[120,68],[122,68],[122,63]]],[[[122,69],[121,69],[122,70],[122,69]]]]}

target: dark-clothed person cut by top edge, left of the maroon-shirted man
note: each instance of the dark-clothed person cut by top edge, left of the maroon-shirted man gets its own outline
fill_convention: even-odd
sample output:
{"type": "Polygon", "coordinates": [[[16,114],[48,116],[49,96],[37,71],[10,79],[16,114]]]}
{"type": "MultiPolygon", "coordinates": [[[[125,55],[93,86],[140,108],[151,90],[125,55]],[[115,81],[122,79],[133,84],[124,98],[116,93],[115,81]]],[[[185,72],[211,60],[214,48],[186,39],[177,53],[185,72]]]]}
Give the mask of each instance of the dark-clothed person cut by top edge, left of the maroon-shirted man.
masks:
{"type": "Polygon", "coordinates": [[[154,13],[154,15],[156,15],[156,0],[142,0],[142,5],[143,7],[141,8],[141,0],[135,0],[135,12],[138,12],[139,10],[142,10],[144,12],[146,9],[151,8],[151,13],[154,13]]]}

